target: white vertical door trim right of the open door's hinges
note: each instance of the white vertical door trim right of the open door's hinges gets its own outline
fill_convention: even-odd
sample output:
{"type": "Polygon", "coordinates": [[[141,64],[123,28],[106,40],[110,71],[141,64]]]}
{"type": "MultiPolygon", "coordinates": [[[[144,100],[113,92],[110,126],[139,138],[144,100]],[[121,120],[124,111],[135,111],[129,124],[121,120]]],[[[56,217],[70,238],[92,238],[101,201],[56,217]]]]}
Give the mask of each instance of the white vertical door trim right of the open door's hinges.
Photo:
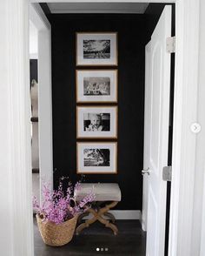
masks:
{"type": "Polygon", "coordinates": [[[169,256],[190,255],[197,120],[199,0],[176,1],[175,100],[169,256]]]}

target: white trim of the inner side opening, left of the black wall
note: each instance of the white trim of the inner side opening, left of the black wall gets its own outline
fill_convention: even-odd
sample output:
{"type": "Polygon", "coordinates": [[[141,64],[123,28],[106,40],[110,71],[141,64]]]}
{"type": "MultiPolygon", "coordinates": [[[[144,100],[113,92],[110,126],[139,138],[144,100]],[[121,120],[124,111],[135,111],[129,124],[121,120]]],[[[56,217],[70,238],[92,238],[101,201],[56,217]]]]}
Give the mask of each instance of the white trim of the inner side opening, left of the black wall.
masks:
{"type": "Polygon", "coordinates": [[[43,180],[53,187],[53,138],[51,91],[51,26],[39,3],[30,4],[30,21],[38,37],[38,138],[40,198],[43,180]]]}

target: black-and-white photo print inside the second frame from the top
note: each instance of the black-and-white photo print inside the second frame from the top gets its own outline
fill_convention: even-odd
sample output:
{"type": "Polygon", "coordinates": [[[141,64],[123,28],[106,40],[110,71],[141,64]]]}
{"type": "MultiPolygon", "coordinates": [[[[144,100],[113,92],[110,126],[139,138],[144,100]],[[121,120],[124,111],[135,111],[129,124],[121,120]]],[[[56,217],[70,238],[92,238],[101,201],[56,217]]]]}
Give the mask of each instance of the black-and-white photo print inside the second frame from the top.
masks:
{"type": "Polygon", "coordinates": [[[83,77],[83,95],[110,95],[109,77],[83,77]]]}

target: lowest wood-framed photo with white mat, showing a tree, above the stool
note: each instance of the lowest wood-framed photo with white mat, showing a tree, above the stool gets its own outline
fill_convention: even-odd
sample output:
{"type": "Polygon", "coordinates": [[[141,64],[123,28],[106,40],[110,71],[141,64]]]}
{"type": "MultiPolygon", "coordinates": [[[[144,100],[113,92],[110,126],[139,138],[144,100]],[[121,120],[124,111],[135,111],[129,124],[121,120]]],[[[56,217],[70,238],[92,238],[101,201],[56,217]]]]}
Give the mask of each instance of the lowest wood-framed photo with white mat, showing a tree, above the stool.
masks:
{"type": "Polygon", "coordinates": [[[77,173],[113,173],[116,171],[117,144],[79,142],[76,146],[77,173]]]}

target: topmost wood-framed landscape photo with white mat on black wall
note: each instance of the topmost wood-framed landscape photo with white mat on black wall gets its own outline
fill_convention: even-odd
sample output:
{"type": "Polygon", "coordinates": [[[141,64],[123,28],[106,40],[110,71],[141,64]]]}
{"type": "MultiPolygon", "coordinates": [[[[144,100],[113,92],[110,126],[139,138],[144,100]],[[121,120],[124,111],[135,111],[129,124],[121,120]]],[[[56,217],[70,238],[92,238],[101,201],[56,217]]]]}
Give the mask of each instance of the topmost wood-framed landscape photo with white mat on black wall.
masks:
{"type": "Polygon", "coordinates": [[[76,33],[76,65],[117,65],[117,33],[76,33]]]}

